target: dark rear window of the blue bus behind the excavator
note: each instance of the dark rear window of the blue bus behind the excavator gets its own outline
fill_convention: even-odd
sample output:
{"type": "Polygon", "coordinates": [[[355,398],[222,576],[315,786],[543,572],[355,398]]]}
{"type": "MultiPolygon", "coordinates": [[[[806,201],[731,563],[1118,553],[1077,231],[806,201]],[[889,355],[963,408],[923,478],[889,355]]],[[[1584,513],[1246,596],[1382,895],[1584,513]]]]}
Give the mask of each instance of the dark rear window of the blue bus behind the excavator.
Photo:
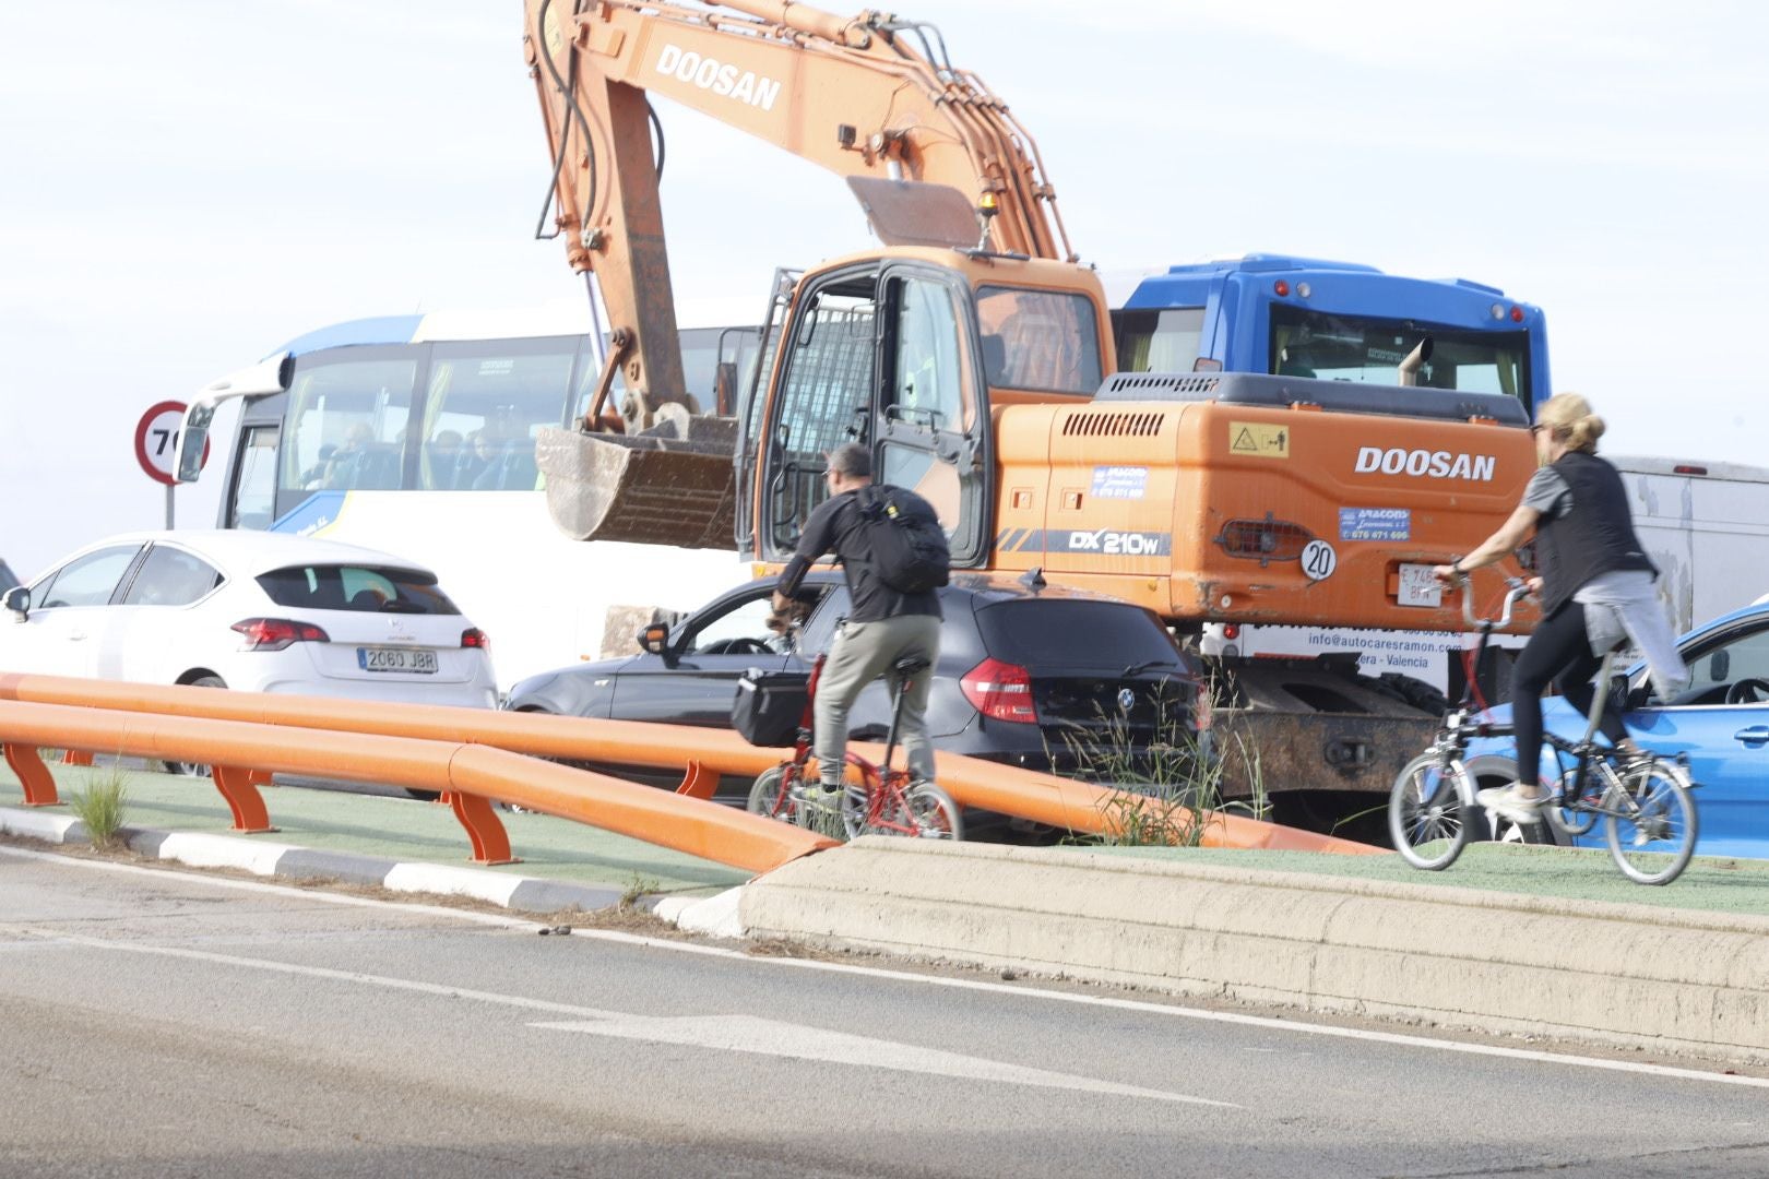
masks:
{"type": "Polygon", "coordinates": [[[1401,361],[1426,336],[1431,338],[1431,359],[1419,369],[1417,384],[1502,392],[1528,403],[1528,332],[1521,329],[1482,332],[1272,304],[1268,371],[1398,385],[1401,361]]]}

